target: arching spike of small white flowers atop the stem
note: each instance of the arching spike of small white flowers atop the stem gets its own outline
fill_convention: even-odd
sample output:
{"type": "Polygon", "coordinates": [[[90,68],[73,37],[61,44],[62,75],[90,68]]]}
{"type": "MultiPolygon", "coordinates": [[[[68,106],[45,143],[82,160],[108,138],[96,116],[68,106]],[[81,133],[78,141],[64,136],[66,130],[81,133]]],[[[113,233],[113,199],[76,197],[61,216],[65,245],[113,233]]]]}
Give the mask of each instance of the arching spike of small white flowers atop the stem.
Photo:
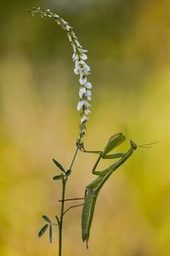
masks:
{"type": "Polygon", "coordinates": [[[39,14],[42,17],[49,17],[54,18],[54,20],[57,22],[59,26],[61,26],[69,38],[69,41],[71,42],[71,46],[73,48],[73,55],[72,59],[75,62],[75,69],[74,73],[76,75],[80,76],[79,83],[80,83],[80,90],[79,90],[79,96],[80,101],[77,104],[77,110],[81,112],[81,125],[80,125],[80,140],[82,137],[84,137],[86,132],[86,123],[88,121],[88,114],[90,113],[89,107],[90,101],[91,101],[91,88],[92,84],[88,82],[87,76],[90,73],[90,67],[88,67],[87,63],[85,62],[88,59],[88,56],[85,54],[88,50],[82,49],[81,44],[77,40],[77,36],[75,32],[73,32],[72,27],[69,26],[68,22],[63,20],[59,17],[59,15],[55,15],[52,12],[50,12],[49,9],[42,12],[40,8],[33,8],[31,9],[31,14],[39,14]]]}

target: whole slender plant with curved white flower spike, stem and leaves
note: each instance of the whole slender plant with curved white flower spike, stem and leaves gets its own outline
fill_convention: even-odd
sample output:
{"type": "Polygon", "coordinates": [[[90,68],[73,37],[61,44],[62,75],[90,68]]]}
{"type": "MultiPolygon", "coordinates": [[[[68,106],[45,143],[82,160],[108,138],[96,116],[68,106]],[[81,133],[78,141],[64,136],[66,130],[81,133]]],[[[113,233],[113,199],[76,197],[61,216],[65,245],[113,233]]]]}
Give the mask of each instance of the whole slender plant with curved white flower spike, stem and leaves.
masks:
{"type": "MultiPolygon", "coordinates": [[[[91,113],[89,108],[91,107],[90,101],[91,101],[91,88],[92,84],[88,82],[88,74],[90,74],[90,67],[85,62],[88,59],[88,56],[86,53],[88,52],[87,49],[82,49],[82,45],[79,43],[77,36],[75,32],[73,32],[72,27],[66,22],[64,19],[59,17],[59,15],[53,14],[50,9],[47,9],[45,11],[41,11],[40,8],[32,8],[30,10],[31,15],[34,16],[36,14],[41,15],[43,17],[48,17],[54,19],[54,21],[62,27],[62,29],[66,32],[66,35],[71,43],[72,49],[73,49],[73,55],[72,60],[75,63],[74,73],[76,75],[79,75],[79,97],[80,100],[77,103],[77,110],[80,112],[81,115],[81,124],[79,125],[79,137],[77,138],[76,143],[76,150],[75,154],[73,155],[73,158],[71,160],[71,165],[68,168],[68,170],[65,170],[65,168],[59,163],[57,160],[53,160],[55,166],[59,169],[60,174],[55,176],[54,180],[60,180],[62,183],[62,193],[61,193],[61,208],[60,208],[60,215],[55,215],[55,218],[57,220],[57,223],[54,224],[51,222],[51,220],[43,215],[42,218],[46,221],[46,224],[42,227],[42,229],[39,231],[38,236],[41,237],[46,230],[49,228],[49,241],[52,242],[52,227],[57,226],[59,229],[59,256],[61,256],[62,253],[62,233],[63,233],[63,221],[65,213],[68,212],[72,207],[69,207],[68,209],[65,209],[65,188],[66,183],[68,181],[68,177],[71,175],[72,166],[76,160],[78,150],[82,147],[81,145],[83,138],[85,137],[86,133],[86,124],[88,122],[88,114],[91,113]]],[[[81,205],[73,206],[73,207],[79,207],[81,205]]]]}

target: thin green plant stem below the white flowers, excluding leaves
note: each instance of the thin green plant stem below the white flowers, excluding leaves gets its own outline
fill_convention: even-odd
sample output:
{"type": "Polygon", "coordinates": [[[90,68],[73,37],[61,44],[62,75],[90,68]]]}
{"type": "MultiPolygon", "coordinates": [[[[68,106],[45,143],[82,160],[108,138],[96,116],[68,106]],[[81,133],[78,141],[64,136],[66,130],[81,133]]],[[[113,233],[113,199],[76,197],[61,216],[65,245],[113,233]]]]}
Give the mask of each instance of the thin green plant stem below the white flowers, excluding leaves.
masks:
{"type": "MultiPolygon", "coordinates": [[[[77,153],[78,153],[78,147],[71,160],[70,170],[74,164],[74,161],[76,160],[77,153]]],[[[66,186],[66,180],[64,177],[62,177],[62,197],[61,197],[61,211],[60,211],[60,220],[59,220],[59,256],[61,256],[61,253],[62,253],[63,218],[64,218],[64,212],[65,212],[65,186],[66,186]]]]}

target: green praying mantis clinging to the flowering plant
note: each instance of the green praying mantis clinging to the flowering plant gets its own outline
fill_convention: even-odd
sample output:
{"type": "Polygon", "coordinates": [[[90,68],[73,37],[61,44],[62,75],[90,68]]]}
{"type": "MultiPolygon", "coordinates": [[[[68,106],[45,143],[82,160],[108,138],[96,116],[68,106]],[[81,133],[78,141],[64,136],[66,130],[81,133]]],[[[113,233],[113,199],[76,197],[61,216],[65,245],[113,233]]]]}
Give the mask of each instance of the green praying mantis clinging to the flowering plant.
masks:
{"type": "Polygon", "coordinates": [[[98,177],[94,179],[94,181],[86,187],[84,203],[82,207],[82,241],[86,241],[86,245],[88,247],[88,239],[90,235],[91,224],[94,218],[94,209],[95,204],[99,195],[100,189],[102,189],[103,185],[107,181],[107,179],[111,176],[113,172],[133,154],[133,151],[137,149],[137,145],[130,140],[130,148],[126,153],[116,153],[109,154],[114,148],[118,147],[125,141],[126,137],[120,132],[116,133],[109,140],[109,143],[106,144],[103,151],[88,151],[84,148],[83,143],[79,144],[79,149],[85,153],[93,153],[99,154],[99,158],[94,164],[94,168],[92,173],[97,175],[98,177]],[[96,171],[96,168],[99,164],[99,160],[101,159],[119,159],[111,166],[107,167],[104,171],[96,171]]]}

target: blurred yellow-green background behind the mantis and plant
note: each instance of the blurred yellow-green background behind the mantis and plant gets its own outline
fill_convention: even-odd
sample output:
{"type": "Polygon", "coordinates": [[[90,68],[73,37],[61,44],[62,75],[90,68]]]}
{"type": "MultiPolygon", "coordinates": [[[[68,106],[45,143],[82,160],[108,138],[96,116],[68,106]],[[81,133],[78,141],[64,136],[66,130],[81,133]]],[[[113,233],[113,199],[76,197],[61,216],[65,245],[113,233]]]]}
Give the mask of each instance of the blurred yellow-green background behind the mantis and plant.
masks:
{"type": "MultiPolygon", "coordinates": [[[[139,148],[99,194],[89,249],[81,208],[65,216],[65,256],[170,255],[170,3],[133,0],[3,1],[0,10],[0,255],[57,255],[37,238],[42,214],[59,213],[52,158],[69,166],[80,121],[78,78],[65,32],[34,18],[36,4],[74,27],[88,49],[92,114],[86,148],[102,149],[122,131],[139,148]]],[[[67,197],[82,197],[95,155],[79,154],[67,197]]],[[[102,163],[100,168],[109,166],[102,163]]],[[[67,203],[68,207],[71,204],[67,203]]]]}

